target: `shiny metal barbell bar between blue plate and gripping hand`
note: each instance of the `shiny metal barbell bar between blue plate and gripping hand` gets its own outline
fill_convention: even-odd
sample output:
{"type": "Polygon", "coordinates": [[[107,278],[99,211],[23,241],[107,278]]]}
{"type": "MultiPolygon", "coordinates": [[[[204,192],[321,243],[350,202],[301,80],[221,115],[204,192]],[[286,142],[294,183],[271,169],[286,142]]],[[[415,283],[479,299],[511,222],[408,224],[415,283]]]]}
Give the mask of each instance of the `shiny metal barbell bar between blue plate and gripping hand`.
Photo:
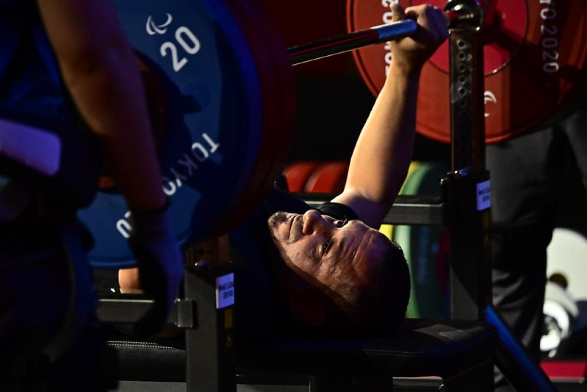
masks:
{"type": "Polygon", "coordinates": [[[349,50],[363,48],[376,43],[391,41],[413,35],[418,28],[411,19],[374,26],[348,34],[327,38],[288,49],[291,65],[298,65],[349,50]]]}

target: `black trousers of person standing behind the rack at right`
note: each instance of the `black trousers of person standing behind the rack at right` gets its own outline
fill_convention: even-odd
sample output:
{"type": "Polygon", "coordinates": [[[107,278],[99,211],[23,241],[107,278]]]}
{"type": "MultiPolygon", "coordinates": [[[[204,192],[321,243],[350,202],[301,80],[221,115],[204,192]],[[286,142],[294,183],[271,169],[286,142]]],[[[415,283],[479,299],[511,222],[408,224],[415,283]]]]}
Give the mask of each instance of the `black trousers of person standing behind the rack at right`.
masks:
{"type": "MultiPolygon", "coordinates": [[[[539,360],[546,284],[546,247],[552,238],[566,171],[587,186],[587,107],[557,126],[487,146],[491,173],[493,302],[539,360]]],[[[511,388],[496,376],[496,391],[511,388]]]]}

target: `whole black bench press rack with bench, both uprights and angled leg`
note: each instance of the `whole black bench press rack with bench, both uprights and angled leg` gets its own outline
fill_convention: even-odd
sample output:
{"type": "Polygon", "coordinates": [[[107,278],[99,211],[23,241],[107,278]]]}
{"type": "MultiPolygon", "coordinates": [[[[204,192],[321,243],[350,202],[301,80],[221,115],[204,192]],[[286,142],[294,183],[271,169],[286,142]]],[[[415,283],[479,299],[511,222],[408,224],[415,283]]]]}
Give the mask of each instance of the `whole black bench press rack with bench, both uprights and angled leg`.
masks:
{"type": "MultiPolygon", "coordinates": [[[[186,329],[185,351],[167,347],[163,353],[163,346],[154,343],[124,347],[123,378],[146,375],[153,381],[185,380],[188,392],[234,392],[237,373],[242,380],[274,381],[275,374],[297,380],[306,374],[311,392],[368,392],[402,390],[399,382],[393,387],[392,377],[439,376],[441,384],[414,382],[446,391],[467,391],[476,384],[475,390],[490,392],[495,362],[518,391],[554,391],[490,305],[490,206],[483,200],[489,174],[477,31],[463,26],[449,36],[452,171],[441,182],[442,197],[399,196],[384,221],[450,229],[451,320],[407,319],[396,332],[379,337],[256,342],[239,347],[235,359],[234,345],[225,344],[226,313],[215,306],[214,279],[227,273],[226,267],[196,265],[186,269],[185,298],[170,315],[170,322],[186,329]],[[124,353],[127,349],[132,352],[124,353]],[[139,372],[129,371],[126,360],[135,361],[139,372]]],[[[311,195],[306,201],[312,206],[327,199],[311,195]]],[[[102,299],[98,315],[103,322],[129,323],[148,305],[149,300],[102,299]]]]}

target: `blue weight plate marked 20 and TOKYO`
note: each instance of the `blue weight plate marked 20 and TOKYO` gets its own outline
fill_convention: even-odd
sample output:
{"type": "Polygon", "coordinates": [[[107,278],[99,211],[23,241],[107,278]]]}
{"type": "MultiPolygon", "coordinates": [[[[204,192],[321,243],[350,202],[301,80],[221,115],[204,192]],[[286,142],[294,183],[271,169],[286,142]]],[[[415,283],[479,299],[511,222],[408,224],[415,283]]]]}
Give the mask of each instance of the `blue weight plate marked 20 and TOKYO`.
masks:
{"type": "MultiPolygon", "coordinates": [[[[206,236],[249,181],[262,133],[258,70],[234,13],[218,0],[117,0],[131,46],[160,75],[168,131],[159,148],[163,190],[180,244],[206,236]]],[[[90,263],[134,266],[122,195],[99,192],[80,219],[90,263]]]]}

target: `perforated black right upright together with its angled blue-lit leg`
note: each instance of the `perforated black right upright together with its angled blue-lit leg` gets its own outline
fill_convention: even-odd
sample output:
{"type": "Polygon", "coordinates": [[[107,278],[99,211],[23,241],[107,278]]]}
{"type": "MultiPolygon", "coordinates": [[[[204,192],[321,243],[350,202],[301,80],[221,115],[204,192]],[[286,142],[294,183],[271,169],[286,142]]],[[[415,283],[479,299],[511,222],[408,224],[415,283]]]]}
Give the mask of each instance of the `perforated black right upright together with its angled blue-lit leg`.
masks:
{"type": "Polygon", "coordinates": [[[450,229],[450,304],[455,319],[487,320],[500,342],[493,356],[515,390],[555,391],[491,303],[491,191],[485,169],[484,61],[479,32],[495,1],[453,0],[473,16],[449,36],[452,171],[442,181],[450,229]]]}

